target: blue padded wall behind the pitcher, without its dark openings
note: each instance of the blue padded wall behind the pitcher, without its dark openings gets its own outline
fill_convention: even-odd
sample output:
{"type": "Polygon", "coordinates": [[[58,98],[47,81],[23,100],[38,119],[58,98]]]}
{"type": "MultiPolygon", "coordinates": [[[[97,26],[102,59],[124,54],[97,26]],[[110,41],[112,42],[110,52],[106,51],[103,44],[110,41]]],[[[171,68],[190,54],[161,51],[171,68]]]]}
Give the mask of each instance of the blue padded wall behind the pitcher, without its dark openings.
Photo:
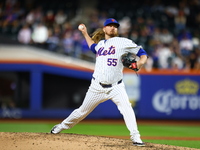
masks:
{"type": "MultiPolygon", "coordinates": [[[[43,74],[84,79],[88,84],[92,77],[91,71],[72,68],[45,64],[1,63],[0,73],[8,71],[30,72],[30,102],[29,108],[1,107],[1,118],[65,118],[75,108],[44,109],[42,107],[43,74]]],[[[134,72],[129,71],[125,72],[124,82],[137,118],[200,119],[199,73],[139,72],[139,76],[136,76],[134,72]]],[[[122,116],[109,100],[97,106],[87,118],[122,118],[122,116]]]]}

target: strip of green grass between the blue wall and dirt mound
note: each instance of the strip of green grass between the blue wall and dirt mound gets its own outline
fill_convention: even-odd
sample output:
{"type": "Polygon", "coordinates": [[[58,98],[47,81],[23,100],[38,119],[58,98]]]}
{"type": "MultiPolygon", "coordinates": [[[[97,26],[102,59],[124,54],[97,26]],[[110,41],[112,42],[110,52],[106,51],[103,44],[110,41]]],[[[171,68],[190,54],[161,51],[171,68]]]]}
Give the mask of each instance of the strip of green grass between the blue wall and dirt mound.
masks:
{"type": "MultiPolygon", "coordinates": [[[[48,133],[50,129],[59,122],[0,122],[0,132],[42,132],[48,133]]],[[[138,124],[142,137],[196,137],[200,138],[200,126],[197,125],[140,125],[138,124]]],[[[99,136],[124,136],[129,138],[129,131],[122,123],[87,123],[80,122],[70,130],[62,133],[75,133],[99,136]]],[[[200,149],[200,140],[163,140],[143,139],[144,142],[167,144],[200,149]]]]}

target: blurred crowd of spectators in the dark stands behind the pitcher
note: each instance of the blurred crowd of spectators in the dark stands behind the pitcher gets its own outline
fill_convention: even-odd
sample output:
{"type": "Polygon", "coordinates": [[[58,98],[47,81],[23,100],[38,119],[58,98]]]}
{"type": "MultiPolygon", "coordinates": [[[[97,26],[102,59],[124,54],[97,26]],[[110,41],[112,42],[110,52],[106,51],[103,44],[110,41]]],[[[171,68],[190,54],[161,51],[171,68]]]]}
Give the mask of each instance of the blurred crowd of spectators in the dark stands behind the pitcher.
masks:
{"type": "Polygon", "coordinates": [[[0,2],[0,34],[10,35],[21,44],[93,62],[95,56],[77,26],[83,22],[92,33],[112,17],[120,23],[120,36],[147,51],[147,70],[200,69],[200,0],[124,0],[124,5],[101,0],[92,9],[83,6],[86,13],[77,2],[0,2]]]}

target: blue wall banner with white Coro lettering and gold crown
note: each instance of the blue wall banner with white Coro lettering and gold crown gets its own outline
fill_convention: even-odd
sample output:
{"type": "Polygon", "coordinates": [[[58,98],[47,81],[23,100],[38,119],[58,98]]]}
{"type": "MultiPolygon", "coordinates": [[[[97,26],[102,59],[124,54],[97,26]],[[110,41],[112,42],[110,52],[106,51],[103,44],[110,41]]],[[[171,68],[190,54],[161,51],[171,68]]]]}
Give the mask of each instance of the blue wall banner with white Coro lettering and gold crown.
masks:
{"type": "Polygon", "coordinates": [[[146,75],[141,82],[138,117],[200,119],[200,76],[146,75]]]}

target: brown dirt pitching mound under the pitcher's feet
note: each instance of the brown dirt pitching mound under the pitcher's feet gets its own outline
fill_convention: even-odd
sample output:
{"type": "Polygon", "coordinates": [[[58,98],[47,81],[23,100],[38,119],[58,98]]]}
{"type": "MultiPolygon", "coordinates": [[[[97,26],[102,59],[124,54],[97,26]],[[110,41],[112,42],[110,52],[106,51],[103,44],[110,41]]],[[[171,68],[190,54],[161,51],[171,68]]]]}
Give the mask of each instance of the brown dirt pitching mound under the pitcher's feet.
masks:
{"type": "Polygon", "coordinates": [[[136,147],[130,140],[80,134],[0,132],[1,150],[195,150],[146,143],[136,147]]]}

